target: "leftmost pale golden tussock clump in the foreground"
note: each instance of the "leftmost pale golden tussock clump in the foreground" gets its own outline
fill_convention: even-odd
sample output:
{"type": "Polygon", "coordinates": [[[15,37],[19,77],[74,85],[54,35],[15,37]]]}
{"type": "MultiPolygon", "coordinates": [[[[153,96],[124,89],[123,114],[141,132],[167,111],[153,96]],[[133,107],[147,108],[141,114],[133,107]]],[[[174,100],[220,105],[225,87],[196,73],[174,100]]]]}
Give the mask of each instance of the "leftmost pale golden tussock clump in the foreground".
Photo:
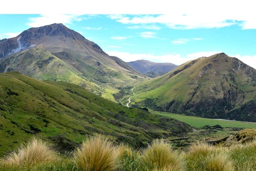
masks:
{"type": "Polygon", "coordinates": [[[53,161],[57,158],[52,145],[33,137],[26,145],[9,154],[5,163],[10,165],[33,165],[53,161]]]}

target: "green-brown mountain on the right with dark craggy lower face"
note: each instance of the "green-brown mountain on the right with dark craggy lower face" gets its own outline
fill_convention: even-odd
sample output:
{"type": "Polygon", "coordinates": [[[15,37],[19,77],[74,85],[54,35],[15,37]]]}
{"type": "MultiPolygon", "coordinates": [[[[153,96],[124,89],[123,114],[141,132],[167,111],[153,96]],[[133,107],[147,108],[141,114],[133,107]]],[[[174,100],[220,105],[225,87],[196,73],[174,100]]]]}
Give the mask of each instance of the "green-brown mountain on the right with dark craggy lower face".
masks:
{"type": "Polygon", "coordinates": [[[201,57],[135,84],[131,105],[256,122],[256,70],[224,53],[201,57]]]}

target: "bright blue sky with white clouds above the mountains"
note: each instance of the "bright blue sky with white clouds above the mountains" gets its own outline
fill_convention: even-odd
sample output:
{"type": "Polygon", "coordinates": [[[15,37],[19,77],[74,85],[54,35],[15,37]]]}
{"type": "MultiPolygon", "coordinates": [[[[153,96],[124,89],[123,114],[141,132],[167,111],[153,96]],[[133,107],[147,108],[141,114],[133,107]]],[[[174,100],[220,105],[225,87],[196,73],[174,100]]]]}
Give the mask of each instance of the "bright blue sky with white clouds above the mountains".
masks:
{"type": "Polygon", "coordinates": [[[169,14],[1,14],[0,39],[31,27],[63,23],[125,62],[149,60],[180,65],[224,52],[256,68],[256,20],[249,12],[169,14]]]}

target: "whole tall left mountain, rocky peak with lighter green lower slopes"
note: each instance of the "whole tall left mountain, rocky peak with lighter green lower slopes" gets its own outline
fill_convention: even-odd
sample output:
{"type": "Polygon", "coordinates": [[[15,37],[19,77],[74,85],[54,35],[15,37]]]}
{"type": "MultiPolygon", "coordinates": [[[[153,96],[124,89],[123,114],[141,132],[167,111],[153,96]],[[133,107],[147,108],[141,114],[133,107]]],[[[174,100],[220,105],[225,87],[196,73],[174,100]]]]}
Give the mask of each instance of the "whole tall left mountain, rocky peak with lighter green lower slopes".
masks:
{"type": "Polygon", "coordinates": [[[113,93],[144,76],[63,24],[30,28],[0,41],[0,71],[78,84],[115,101],[113,93]]]}

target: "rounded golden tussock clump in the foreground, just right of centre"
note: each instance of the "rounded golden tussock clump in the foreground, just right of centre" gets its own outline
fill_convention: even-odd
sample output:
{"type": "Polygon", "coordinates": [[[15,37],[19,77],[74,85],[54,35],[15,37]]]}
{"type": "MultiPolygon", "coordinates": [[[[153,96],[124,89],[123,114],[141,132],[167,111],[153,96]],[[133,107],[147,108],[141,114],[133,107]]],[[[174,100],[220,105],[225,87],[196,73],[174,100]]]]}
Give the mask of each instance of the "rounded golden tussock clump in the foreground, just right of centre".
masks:
{"type": "Polygon", "coordinates": [[[171,144],[164,140],[154,140],[143,150],[143,161],[151,170],[181,171],[184,164],[179,153],[172,149],[171,144]]]}

